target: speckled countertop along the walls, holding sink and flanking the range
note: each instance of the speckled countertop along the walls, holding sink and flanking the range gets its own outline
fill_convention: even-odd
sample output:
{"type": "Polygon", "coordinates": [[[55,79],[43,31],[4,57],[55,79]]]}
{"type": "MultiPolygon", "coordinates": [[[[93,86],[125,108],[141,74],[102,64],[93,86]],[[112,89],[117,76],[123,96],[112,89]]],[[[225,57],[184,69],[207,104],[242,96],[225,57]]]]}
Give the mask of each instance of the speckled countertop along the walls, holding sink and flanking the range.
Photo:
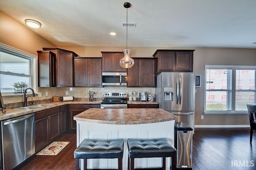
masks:
{"type": "MultiPolygon", "coordinates": [[[[27,115],[29,113],[34,113],[34,112],[38,112],[38,111],[43,111],[46,109],[51,109],[54,107],[58,107],[58,106],[62,106],[62,105],[67,105],[67,104],[100,104],[101,101],[57,101],[57,102],[50,102],[50,103],[46,103],[46,104],[54,104],[52,106],[47,106],[47,107],[41,107],[38,109],[33,109],[33,110],[17,110],[17,109],[5,109],[4,111],[6,111],[6,113],[2,113],[2,111],[0,111],[0,121],[5,120],[5,119],[10,119],[10,118],[14,118],[14,117],[18,117],[18,116],[22,116],[22,115],[27,115]]],[[[39,104],[43,104],[43,103],[39,103],[39,104]]],[[[149,101],[132,101],[132,102],[127,102],[127,104],[159,104],[158,102],[149,102],[149,101]]]]}

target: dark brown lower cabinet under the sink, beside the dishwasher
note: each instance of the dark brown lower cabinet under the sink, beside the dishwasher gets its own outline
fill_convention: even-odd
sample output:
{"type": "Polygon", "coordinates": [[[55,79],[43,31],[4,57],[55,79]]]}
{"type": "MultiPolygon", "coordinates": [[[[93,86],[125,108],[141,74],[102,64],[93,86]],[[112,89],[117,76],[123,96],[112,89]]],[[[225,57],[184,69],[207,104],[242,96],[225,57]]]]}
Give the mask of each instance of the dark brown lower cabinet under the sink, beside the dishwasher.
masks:
{"type": "Polygon", "coordinates": [[[42,150],[60,134],[60,107],[35,113],[35,148],[42,150]]]}

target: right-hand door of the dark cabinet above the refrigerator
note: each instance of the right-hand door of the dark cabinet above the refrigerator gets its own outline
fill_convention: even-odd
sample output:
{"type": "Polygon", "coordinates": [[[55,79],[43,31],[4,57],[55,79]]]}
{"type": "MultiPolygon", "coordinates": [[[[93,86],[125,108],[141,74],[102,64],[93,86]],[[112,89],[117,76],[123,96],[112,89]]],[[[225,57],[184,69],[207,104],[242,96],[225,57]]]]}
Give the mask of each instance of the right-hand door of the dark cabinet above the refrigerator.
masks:
{"type": "Polygon", "coordinates": [[[191,51],[176,52],[176,71],[193,72],[193,52],[191,51]]]}

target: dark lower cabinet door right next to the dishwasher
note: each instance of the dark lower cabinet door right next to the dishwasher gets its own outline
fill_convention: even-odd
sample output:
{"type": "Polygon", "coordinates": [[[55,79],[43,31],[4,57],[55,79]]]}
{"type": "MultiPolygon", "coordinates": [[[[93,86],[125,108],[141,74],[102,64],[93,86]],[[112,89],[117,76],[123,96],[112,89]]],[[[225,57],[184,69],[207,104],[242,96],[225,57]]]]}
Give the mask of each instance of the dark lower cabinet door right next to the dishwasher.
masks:
{"type": "Polygon", "coordinates": [[[49,119],[48,117],[35,121],[35,148],[36,152],[43,149],[49,139],[49,119]]]}

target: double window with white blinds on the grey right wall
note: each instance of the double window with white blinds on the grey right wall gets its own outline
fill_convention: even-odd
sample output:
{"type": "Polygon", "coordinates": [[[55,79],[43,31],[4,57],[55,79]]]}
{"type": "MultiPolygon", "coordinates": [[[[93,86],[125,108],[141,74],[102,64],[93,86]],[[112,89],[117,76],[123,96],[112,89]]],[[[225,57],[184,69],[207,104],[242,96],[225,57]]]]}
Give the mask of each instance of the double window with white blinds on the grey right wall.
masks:
{"type": "Polygon", "coordinates": [[[255,104],[254,66],[205,66],[205,113],[247,113],[255,104]]]}

